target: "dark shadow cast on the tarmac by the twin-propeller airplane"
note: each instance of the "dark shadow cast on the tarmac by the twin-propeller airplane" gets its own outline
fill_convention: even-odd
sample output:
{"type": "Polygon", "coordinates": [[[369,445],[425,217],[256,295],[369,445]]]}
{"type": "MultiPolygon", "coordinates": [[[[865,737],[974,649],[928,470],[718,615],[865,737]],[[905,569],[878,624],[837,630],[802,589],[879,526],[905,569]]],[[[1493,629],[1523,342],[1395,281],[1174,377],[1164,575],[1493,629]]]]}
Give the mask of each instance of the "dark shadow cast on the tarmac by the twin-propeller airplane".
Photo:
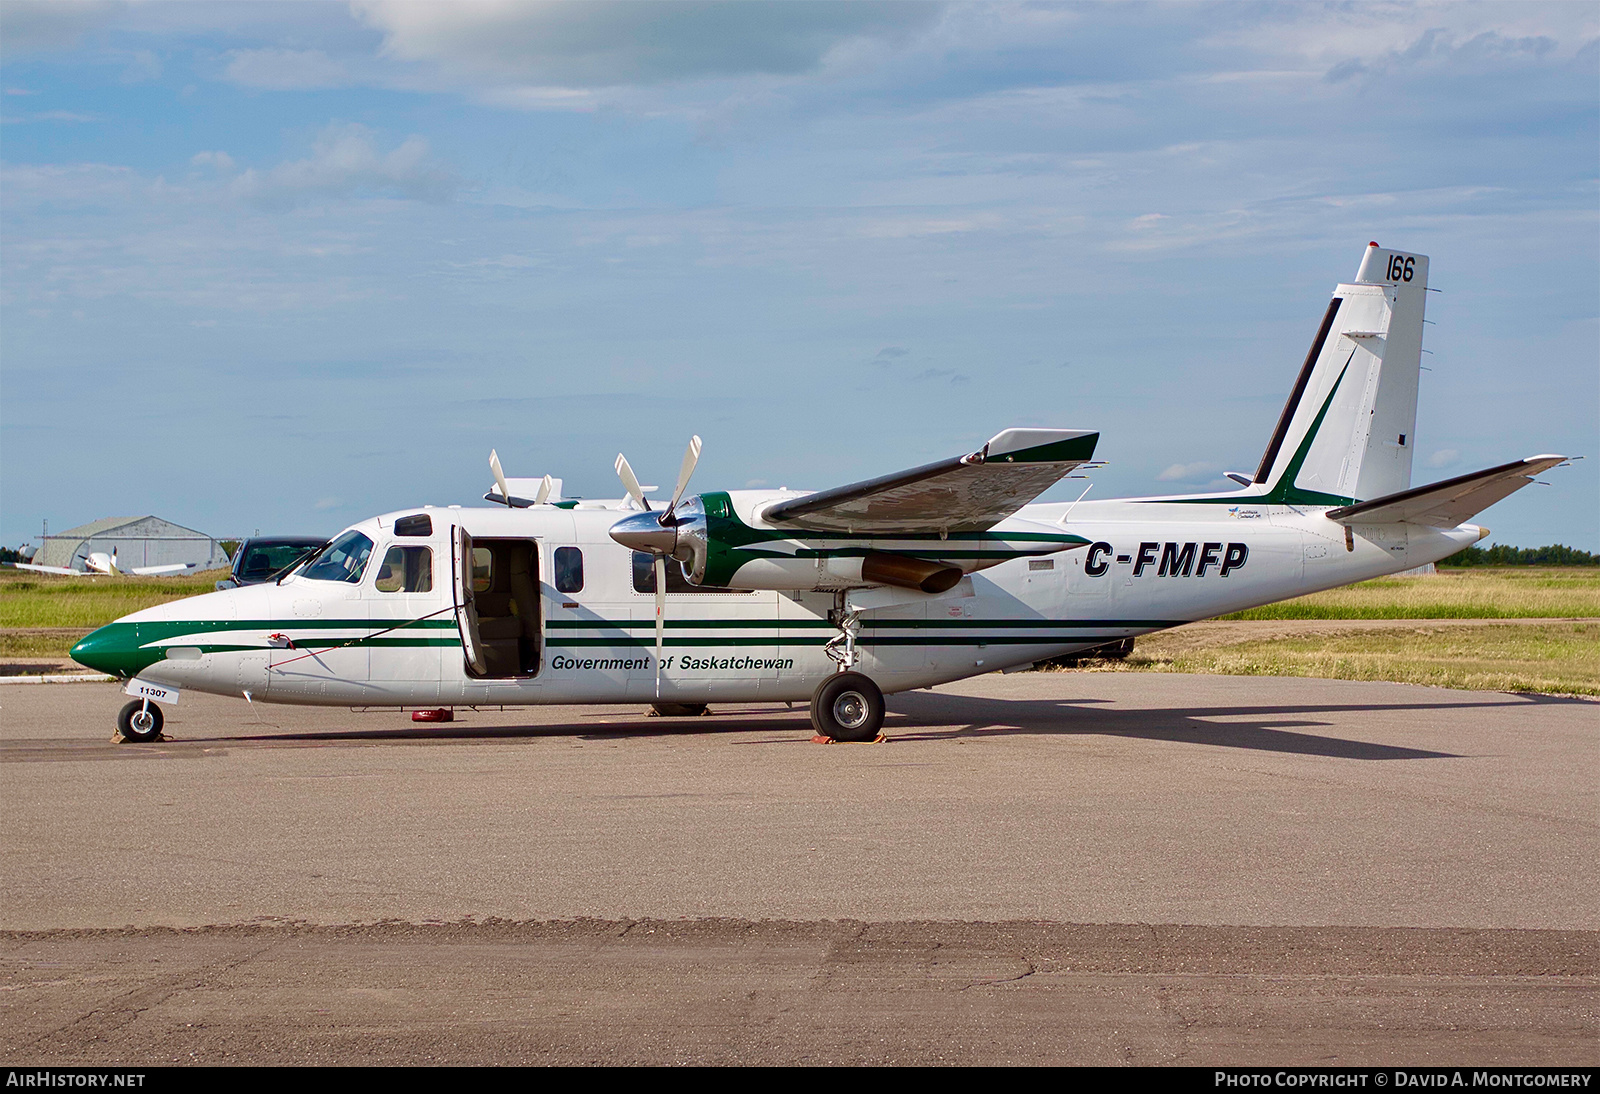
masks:
{"type": "MultiPolygon", "coordinates": [[[[1221,749],[1250,749],[1294,755],[1338,757],[1346,760],[1445,760],[1459,753],[1402,745],[1349,741],[1317,733],[1294,733],[1294,728],[1331,726],[1326,718],[1296,715],[1342,715],[1357,712],[1462,710],[1482,707],[1517,707],[1518,701],[1496,696],[1483,702],[1373,702],[1373,704],[1240,704],[1227,707],[1130,709],[1104,699],[982,699],[947,693],[904,693],[893,696],[894,707],[885,721],[885,734],[898,742],[982,739],[989,736],[1110,736],[1174,744],[1205,744],[1221,749]],[[1235,718],[1238,721],[1214,721],[1235,718]]],[[[1525,696],[1523,701],[1550,701],[1552,696],[1525,696]]],[[[195,744],[338,744],[365,741],[451,741],[461,744],[538,737],[576,737],[579,741],[616,741],[645,737],[682,737],[709,734],[784,734],[781,742],[747,741],[739,744],[784,744],[797,731],[808,731],[805,710],[723,710],[704,718],[618,717],[606,710],[603,726],[594,723],[482,726],[472,723],[434,726],[394,726],[382,729],[326,729],[186,737],[195,744]]]]}

